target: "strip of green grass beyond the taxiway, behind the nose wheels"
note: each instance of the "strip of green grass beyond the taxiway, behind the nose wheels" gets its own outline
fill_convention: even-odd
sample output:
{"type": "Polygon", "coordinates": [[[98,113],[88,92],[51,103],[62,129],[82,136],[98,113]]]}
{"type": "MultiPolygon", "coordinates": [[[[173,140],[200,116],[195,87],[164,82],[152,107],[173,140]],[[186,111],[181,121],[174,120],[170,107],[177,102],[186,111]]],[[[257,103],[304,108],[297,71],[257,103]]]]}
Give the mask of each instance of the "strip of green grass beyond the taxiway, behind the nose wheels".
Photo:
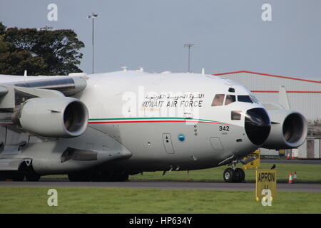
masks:
{"type": "MultiPolygon", "coordinates": [[[[270,169],[272,163],[261,163],[260,169],[270,169]]],[[[276,163],[277,182],[287,182],[289,172],[297,172],[296,182],[321,182],[321,165],[282,164],[276,163]]],[[[238,165],[238,167],[242,167],[238,165]]],[[[194,170],[189,174],[186,171],[143,172],[143,175],[130,176],[130,180],[164,180],[164,181],[194,181],[194,182],[223,182],[223,171],[227,166],[215,167],[206,170],[194,170]]],[[[67,179],[66,175],[44,176],[46,178],[67,179]]],[[[245,170],[245,180],[255,182],[255,170],[245,170]]]]}

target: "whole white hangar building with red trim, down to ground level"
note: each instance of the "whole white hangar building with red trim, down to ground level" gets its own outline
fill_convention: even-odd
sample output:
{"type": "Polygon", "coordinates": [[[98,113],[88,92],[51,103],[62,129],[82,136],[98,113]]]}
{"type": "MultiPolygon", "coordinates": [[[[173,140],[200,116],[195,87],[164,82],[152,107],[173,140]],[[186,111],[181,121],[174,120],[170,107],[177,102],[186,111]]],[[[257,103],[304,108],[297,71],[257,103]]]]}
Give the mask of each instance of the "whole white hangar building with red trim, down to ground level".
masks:
{"type": "MultiPolygon", "coordinates": [[[[229,78],[246,86],[261,103],[277,103],[280,86],[285,86],[290,108],[302,113],[310,123],[307,140],[299,147],[296,157],[321,158],[321,125],[312,126],[315,120],[319,120],[319,123],[321,123],[321,81],[251,71],[216,73],[214,76],[229,78]],[[311,136],[310,134],[315,131],[317,136],[311,136]]],[[[274,152],[261,150],[261,153],[263,155],[276,155],[275,150],[274,152]]]]}

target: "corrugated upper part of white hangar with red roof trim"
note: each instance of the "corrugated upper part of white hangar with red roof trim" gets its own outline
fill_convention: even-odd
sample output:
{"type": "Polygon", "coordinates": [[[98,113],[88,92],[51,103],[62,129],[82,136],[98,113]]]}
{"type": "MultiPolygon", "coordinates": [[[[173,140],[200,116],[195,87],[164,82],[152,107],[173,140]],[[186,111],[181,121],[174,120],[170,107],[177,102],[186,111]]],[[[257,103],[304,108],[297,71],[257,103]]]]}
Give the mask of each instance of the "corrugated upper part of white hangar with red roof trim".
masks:
{"type": "Polygon", "coordinates": [[[290,107],[307,120],[321,118],[321,81],[276,76],[253,71],[217,73],[213,76],[229,78],[249,88],[262,103],[277,103],[280,86],[285,86],[290,107]]]}

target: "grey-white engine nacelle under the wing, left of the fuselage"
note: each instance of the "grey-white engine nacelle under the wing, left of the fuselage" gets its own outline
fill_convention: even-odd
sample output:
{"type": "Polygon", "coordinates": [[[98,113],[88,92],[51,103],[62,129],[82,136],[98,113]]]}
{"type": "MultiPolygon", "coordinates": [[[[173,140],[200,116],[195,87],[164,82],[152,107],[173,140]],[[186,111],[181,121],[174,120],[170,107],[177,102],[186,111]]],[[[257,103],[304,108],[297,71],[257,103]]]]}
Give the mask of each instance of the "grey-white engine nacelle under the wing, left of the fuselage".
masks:
{"type": "Polygon", "coordinates": [[[16,108],[11,119],[29,133],[48,138],[71,138],[85,132],[88,110],[76,98],[32,98],[16,108]]]}

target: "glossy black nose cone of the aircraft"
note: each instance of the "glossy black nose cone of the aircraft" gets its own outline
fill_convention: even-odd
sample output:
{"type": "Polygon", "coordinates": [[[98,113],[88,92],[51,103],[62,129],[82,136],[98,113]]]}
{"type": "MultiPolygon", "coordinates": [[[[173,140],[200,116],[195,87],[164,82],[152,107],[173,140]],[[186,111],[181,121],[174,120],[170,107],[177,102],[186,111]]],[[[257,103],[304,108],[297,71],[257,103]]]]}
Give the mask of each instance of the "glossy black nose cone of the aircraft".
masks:
{"type": "Polygon", "coordinates": [[[255,145],[262,145],[270,134],[271,123],[269,115],[263,108],[253,108],[245,115],[245,132],[255,145]]]}

